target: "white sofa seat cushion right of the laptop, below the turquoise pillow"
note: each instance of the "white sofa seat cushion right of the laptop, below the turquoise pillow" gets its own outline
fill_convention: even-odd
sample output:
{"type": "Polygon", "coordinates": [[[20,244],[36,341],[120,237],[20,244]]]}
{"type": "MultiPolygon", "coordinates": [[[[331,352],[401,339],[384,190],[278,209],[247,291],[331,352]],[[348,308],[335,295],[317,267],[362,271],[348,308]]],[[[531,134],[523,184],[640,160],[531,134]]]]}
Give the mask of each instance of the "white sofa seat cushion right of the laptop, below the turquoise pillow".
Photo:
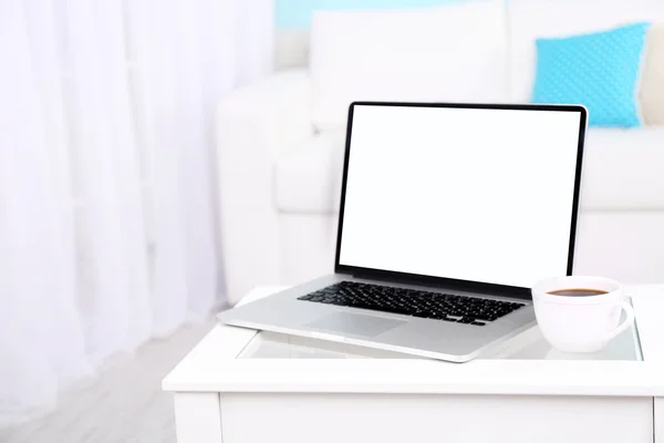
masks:
{"type": "Polygon", "coordinates": [[[664,209],[664,126],[591,128],[585,142],[581,207],[664,209]]]}

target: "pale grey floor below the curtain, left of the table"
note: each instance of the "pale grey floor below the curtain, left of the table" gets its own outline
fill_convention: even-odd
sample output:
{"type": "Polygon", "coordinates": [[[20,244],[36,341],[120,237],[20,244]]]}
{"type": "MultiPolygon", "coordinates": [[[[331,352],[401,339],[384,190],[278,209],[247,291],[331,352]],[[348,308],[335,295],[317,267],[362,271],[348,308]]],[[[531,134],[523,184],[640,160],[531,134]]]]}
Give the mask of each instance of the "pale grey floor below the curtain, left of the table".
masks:
{"type": "Polygon", "coordinates": [[[173,400],[160,382],[212,322],[187,327],[114,361],[94,384],[65,393],[51,414],[0,429],[1,443],[172,443],[173,400]]]}

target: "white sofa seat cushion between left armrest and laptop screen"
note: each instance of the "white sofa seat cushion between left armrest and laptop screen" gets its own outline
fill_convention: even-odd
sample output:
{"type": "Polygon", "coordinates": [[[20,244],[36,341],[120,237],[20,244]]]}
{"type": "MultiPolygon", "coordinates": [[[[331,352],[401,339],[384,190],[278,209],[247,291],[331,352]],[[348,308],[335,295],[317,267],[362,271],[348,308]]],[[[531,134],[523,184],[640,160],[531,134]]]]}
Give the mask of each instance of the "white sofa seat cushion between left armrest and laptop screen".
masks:
{"type": "Polygon", "coordinates": [[[299,214],[339,210],[344,141],[345,131],[328,131],[277,159],[277,209],[299,214]]]}

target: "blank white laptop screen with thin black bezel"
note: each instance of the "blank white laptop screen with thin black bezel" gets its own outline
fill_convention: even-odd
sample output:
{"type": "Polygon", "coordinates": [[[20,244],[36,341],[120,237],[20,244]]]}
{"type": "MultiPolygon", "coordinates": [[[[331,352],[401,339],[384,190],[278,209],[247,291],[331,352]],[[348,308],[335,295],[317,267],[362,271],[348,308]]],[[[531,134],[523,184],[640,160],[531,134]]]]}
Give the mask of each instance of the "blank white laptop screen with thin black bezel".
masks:
{"type": "Polygon", "coordinates": [[[567,275],[584,112],[525,107],[354,104],[338,264],[521,288],[567,275]]]}

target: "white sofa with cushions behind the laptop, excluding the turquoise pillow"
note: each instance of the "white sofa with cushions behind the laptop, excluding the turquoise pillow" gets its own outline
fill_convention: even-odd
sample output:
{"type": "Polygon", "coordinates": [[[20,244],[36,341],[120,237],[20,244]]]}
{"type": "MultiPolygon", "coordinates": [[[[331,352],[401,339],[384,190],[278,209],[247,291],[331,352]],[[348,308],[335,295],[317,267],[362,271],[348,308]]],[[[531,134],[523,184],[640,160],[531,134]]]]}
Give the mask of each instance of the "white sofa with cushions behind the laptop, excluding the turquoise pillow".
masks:
{"type": "MultiPolygon", "coordinates": [[[[417,24],[422,16],[406,11],[388,18],[381,11],[319,14],[311,33],[278,35],[274,74],[221,101],[217,157],[221,248],[230,302],[259,284],[297,284],[332,271],[345,102],[423,100],[427,90],[430,96],[424,100],[430,101],[481,101],[479,90],[488,91],[484,101],[527,102],[536,37],[664,18],[664,2],[660,0],[510,0],[507,7],[502,0],[484,2],[500,7],[480,14],[473,11],[471,16],[453,11],[452,19],[442,20],[456,23],[442,23],[443,31],[427,30],[435,14],[423,25],[417,24]],[[602,14],[592,13],[598,2],[602,14]],[[397,23],[400,28],[395,28],[397,23]],[[331,37],[334,27],[341,24],[343,32],[331,37]],[[448,33],[463,34],[465,27],[481,29],[473,31],[475,42],[505,43],[491,43],[492,52],[481,55],[491,59],[484,68],[459,54],[465,50],[457,49],[457,42],[449,43],[448,33]],[[390,35],[395,29],[402,35],[398,40],[390,35]],[[429,35],[429,31],[442,33],[429,35]],[[362,32],[371,32],[370,38],[362,32]],[[425,37],[428,42],[417,40],[425,37]],[[433,40],[442,41],[440,45],[436,48],[433,40]],[[445,62],[427,60],[436,56],[445,62]],[[400,58],[408,69],[400,68],[400,58]],[[481,75],[455,72],[457,65],[484,71],[481,75]],[[436,83],[436,75],[422,76],[418,70],[440,70],[436,74],[446,83],[436,83]],[[409,75],[423,84],[409,87],[409,75]],[[460,92],[450,92],[450,82],[466,78],[476,84],[464,87],[459,83],[453,90],[460,92]]],[[[625,282],[664,282],[663,165],[664,126],[589,130],[575,274],[625,282]]]]}

